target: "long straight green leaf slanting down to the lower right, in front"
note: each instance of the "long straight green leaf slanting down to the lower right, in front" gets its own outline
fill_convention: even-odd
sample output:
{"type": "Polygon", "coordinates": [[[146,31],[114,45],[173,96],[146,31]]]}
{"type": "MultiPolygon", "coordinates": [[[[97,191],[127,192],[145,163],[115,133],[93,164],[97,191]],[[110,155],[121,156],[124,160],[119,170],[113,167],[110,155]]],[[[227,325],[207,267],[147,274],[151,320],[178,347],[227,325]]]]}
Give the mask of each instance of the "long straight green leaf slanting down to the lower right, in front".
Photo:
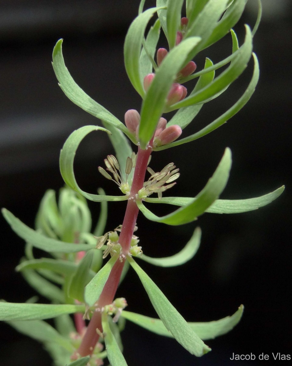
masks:
{"type": "Polygon", "coordinates": [[[150,277],[138,264],[136,264],[134,259],[128,257],[128,261],[139,276],[154,309],[156,310],[166,329],[171,332],[173,337],[181,344],[181,346],[186,348],[186,350],[188,350],[192,355],[196,356],[202,356],[203,354],[209,352],[210,348],[206,346],[196,335],[196,333],[190,328],[184,318],[178,313],[175,307],[171,305],[168,299],[166,299],[165,295],[150,279],[150,277]]]}

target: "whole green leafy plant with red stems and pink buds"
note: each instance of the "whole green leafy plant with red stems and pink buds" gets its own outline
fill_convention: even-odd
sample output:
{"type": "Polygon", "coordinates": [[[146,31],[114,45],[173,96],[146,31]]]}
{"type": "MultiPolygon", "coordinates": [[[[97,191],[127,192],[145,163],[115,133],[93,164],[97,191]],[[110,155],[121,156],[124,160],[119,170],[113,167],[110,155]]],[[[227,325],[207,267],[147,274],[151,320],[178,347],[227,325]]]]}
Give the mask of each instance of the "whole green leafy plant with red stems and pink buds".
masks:
{"type": "MultiPolygon", "coordinates": [[[[136,230],[139,214],[158,223],[183,225],[195,221],[204,212],[230,214],[258,209],[277,198],[284,189],[280,187],[257,198],[218,199],[231,168],[228,148],[213,176],[200,192],[194,192],[194,197],[169,197],[171,188],[179,182],[177,162],[169,161],[158,172],[151,168],[152,152],[156,152],[154,158],[157,159],[161,150],[178,149],[179,145],[216,130],[242,109],[254,93],[259,66],[252,53],[252,38],[259,24],[260,3],[255,26],[252,30],[245,26],[241,45],[232,30],[246,1],[187,0],[184,7],[183,0],[157,0],[157,7],[143,10],[145,1],[142,0],[124,43],[126,72],[141,96],[142,105],[139,112],[125,106],[125,111],[130,109],[125,113],[124,123],[76,85],[64,64],[63,40],[57,42],[53,68],[59,86],[72,102],[97,117],[102,126],[81,127],[64,143],[60,171],[65,187],[59,192],[58,202],[54,191],[46,191],[35,229],[3,209],[11,228],[26,242],[25,258],[16,270],[50,303],[35,303],[34,298],[26,303],[0,303],[1,320],[42,342],[55,365],[127,365],[120,337],[125,320],[150,332],[174,337],[195,356],[210,351],[206,340],[227,333],[239,322],[242,305],[233,315],[217,321],[187,322],[140,267],[143,261],[162,267],[189,261],[198,249],[200,228],[194,229],[179,253],[164,258],[147,256],[147,246],[143,245],[143,240],[139,241],[136,230]],[[155,19],[153,16],[156,20],[146,32],[150,19],[155,19]],[[161,32],[167,44],[157,49],[161,32]],[[206,58],[205,67],[197,71],[196,55],[199,52],[207,55],[207,48],[225,35],[230,37],[231,54],[215,64],[206,58]],[[184,128],[195,119],[203,104],[227,90],[249,61],[254,71],[239,100],[202,130],[185,134],[184,128]],[[196,81],[193,88],[188,87],[190,80],[196,81]],[[172,111],[175,113],[168,117],[168,112],[172,111]],[[101,173],[97,186],[108,184],[106,179],[112,180],[117,186],[116,196],[106,195],[101,188],[97,194],[86,193],[76,182],[73,169],[76,150],[83,138],[94,131],[108,136],[115,150],[115,155],[106,156],[97,168],[101,173]],[[100,202],[99,220],[92,231],[86,199],[100,202]],[[115,212],[111,231],[104,232],[108,201],[124,201],[125,210],[115,212]],[[154,203],[171,205],[171,213],[157,216],[151,210],[154,203]],[[35,258],[34,248],[49,253],[48,257],[35,258]],[[126,298],[116,298],[117,287],[129,266],[141,280],[157,318],[124,310],[126,298]],[[55,328],[45,321],[50,318],[54,318],[55,328]]],[[[155,244],[147,243],[148,246],[155,244]]],[[[144,290],[141,287],[141,291],[144,290]]],[[[131,303],[131,308],[134,307],[131,303]]]]}

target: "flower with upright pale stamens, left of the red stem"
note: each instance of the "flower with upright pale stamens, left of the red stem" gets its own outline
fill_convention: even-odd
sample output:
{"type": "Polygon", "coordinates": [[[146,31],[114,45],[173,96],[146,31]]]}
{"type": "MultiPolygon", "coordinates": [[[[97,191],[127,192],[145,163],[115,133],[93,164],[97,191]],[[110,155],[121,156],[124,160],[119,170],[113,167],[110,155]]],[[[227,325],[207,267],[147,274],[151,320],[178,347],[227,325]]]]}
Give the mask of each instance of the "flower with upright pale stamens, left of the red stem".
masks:
{"type": "Polygon", "coordinates": [[[130,195],[131,187],[128,183],[128,176],[135,165],[135,157],[133,156],[133,154],[132,157],[129,156],[127,157],[127,163],[125,169],[126,180],[123,179],[123,175],[121,174],[120,171],[120,165],[117,162],[117,159],[113,155],[108,155],[107,158],[104,159],[104,163],[106,166],[106,170],[112,173],[113,178],[108,172],[106,172],[104,168],[98,167],[98,171],[101,173],[101,175],[103,175],[106,179],[115,182],[124,194],[130,195]]]}

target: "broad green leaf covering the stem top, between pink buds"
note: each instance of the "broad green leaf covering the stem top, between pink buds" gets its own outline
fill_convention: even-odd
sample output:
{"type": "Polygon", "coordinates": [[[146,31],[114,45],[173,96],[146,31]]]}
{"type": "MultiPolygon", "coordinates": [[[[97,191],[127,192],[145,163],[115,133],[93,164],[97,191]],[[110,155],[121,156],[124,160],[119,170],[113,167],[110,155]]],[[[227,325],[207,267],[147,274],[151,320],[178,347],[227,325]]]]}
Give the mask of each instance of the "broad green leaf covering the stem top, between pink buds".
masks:
{"type": "Polygon", "coordinates": [[[158,120],[165,108],[166,97],[177,72],[188,61],[188,53],[199,41],[200,38],[198,37],[182,41],[166,55],[158,68],[142,103],[139,125],[139,142],[142,149],[146,148],[156,130],[158,120]]]}

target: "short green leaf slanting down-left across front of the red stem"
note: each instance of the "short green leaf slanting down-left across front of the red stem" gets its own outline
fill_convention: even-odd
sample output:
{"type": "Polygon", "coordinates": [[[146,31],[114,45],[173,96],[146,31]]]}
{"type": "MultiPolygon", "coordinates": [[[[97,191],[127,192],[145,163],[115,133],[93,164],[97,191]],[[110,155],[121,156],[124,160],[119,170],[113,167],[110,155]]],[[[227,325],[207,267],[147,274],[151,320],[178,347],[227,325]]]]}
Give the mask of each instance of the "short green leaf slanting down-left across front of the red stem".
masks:
{"type": "Polygon", "coordinates": [[[109,261],[97,272],[89,284],[85,287],[84,299],[87,305],[93,306],[94,303],[100,297],[100,294],[104,288],[106,280],[113,268],[113,265],[117,261],[117,256],[112,257],[109,261]]]}

